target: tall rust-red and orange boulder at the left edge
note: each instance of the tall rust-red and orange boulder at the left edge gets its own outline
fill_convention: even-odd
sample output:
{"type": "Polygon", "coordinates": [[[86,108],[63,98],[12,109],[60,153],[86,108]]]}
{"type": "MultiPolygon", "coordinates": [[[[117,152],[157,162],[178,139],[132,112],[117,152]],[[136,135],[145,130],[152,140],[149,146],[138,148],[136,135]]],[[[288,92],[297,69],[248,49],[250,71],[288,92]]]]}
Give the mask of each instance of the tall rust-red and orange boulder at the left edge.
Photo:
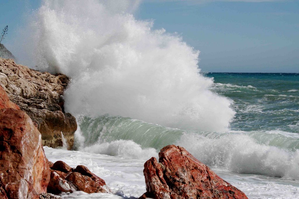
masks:
{"type": "Polygon", "coordinates": [[[49,179],[41,134],[0,87],[0,198],[39,198],[49,179]]]}

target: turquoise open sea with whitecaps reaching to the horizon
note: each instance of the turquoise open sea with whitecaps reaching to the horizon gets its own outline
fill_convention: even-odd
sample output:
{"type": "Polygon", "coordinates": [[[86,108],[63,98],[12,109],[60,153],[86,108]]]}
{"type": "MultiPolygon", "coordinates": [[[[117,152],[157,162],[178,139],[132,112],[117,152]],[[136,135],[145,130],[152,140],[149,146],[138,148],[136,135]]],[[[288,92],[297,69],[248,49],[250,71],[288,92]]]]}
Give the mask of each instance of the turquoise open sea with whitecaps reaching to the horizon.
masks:
{"type": "Polygon", "coordinates": [[[231,129],[299,133],[299,73],[207,73],[234,101],[231,129]]]}

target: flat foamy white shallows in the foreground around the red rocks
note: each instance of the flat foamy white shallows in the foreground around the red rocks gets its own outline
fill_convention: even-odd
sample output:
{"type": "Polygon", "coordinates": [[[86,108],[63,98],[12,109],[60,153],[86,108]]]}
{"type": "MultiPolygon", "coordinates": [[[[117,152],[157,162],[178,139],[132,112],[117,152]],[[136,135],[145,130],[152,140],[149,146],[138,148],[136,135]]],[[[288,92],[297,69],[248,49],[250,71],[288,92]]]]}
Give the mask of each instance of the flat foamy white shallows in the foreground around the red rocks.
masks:
{"type": "MultiPolygon", "coordinates": [[[[138,198],[145,191],[143,164],[145,160],[113,157],[88,152],[66,151],[44,147],[49,161],[62,160],[75,167],[87,166],[91,172],[103,178],[112,194],[85,192],[62,193],[62,198],[138,198]]],[[[299,183],[283,178],[271,178],[253,174],[237,174],[213,169],[220,177],[245,192],[248,198],[298,198],[299,183]]]]}

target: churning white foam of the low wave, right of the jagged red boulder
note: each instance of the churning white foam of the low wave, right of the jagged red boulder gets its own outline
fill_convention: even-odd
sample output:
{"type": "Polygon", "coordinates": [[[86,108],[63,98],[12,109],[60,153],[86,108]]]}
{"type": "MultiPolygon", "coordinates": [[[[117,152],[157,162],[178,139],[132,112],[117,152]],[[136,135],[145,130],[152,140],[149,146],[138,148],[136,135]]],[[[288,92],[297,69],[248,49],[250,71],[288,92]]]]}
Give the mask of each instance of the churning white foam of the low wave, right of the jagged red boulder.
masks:
{"type": "Polygon", "coordinates": [[[299,180],[299,149],[290,151],[259,144],[254,138],[244,134],[203,136],[185,133],[176,144],[184,146],[212,168],[299,180]]]}

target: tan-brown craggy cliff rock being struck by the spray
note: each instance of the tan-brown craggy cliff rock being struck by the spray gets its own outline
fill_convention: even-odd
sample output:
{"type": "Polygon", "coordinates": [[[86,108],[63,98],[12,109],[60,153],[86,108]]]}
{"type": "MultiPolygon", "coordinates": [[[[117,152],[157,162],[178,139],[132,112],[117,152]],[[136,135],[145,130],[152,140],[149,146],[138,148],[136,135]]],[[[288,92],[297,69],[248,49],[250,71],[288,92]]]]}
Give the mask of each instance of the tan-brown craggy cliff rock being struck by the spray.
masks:
{"type": "Polygon", "coordinates": [[[68,149],[74,144],[76,119],[64,112],[62,98],[68,82],[65,75],[41,73],[16,64],[12,59],[0,58],[0,86],[33,120],[42,134],[43,146],[62,146],[62,134],[68,149]]]}

